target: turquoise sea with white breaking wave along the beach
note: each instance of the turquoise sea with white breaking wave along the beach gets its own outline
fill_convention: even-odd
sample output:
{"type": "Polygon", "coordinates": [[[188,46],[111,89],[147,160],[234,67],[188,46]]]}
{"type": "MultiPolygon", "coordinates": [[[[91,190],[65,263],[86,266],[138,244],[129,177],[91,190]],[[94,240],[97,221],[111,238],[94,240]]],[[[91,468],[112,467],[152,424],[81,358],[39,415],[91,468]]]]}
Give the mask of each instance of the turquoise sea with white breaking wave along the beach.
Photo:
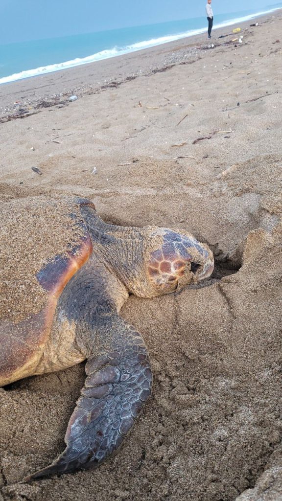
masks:
{"type": "MultiPolygon", "coordinates": [[[[282,7],[220,14],[214,30],[251,20],[282,7]]],[[[134,26],[68,37],[0,45],[0,84],[73,68],[121,54],[154,47],[207,31],[205,17],[134,26]]]]}

